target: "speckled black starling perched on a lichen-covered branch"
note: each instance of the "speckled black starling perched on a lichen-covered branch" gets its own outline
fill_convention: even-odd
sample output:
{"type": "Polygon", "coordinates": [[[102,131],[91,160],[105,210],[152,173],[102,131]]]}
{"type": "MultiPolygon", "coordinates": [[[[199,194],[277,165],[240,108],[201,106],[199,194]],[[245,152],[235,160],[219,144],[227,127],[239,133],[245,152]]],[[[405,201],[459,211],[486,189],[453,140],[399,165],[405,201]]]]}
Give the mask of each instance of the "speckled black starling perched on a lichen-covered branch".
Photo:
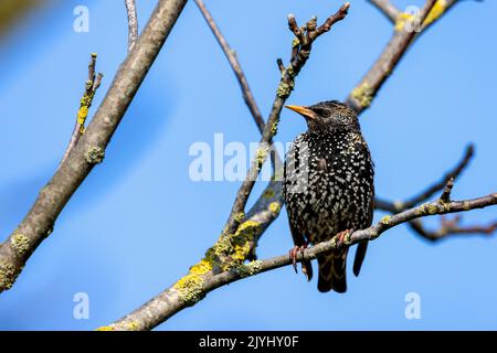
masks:
{"type": "MultiPolygon", "coordinates": [[[[299,135],[287,152],[284,165],[284,200],[296,256],[307,245],[328,240],[337,234],[369,227],[372,222],[373,162],[362,137],[357,114],[338,100],[309,107],[287,106],[300,114],[308,130],[299,135]]],[[[356,253],[353,272],[359,275],[367,242],[356,253]]],[[[348,248],[318,257],[318,290],[345,292],[348,248]]],[[[309,260],[303,272],[313,277],[309,260]]]]}

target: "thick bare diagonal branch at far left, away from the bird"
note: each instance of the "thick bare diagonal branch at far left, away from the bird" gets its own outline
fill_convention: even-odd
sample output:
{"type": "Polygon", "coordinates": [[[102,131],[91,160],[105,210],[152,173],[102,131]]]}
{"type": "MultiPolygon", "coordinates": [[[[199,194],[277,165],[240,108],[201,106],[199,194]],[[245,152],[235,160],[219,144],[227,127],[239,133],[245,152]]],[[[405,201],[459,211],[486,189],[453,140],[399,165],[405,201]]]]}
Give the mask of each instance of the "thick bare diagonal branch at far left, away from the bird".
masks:
{"type": "Polygon", "coordinates": [[[31,254],[47,237],[67,201],[105,149],[157,57],[187,0],[159,0],[135,49],[120,65],[86,132],[40,191],[18,228],[0,244],[0,292],[10,289],[31,254]]]}

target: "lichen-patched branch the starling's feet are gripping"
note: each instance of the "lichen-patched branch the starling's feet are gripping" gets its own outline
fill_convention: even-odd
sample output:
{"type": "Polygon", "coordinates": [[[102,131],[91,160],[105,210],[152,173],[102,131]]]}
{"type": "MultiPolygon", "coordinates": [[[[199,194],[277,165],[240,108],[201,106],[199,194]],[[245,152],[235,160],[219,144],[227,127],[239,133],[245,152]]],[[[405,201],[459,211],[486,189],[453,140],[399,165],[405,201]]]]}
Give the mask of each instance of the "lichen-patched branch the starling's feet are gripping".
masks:
{"type": "MultiPolygon", "coordinates": [[[[298,254],[297,261],[315,259],[319,255],[332,249],[351,246],[363,240],[374,240],[385,231],[420,217],[465,212],[496,204],[497,193],[473,200],[453,201],[448,203],[441,203],[440,200],[437,200],[435,202],[425,203],[399,214],[385,216],[369,228],[356,231],[347,235],[343,243],[340,243],[337,237],[334,237],[328,242],[317,244],[306,249],[304,254],[298,254]]],[[[255,260],[243,264],[219,275],[213,275],[211,271],[202,274],[202,268],[200,266],[192,267],[190,268],[189,275],[180,279],[172,287],[168,288],[123,319],[108,327],[103,327],[99,330],[151,330],[182,309],[193,306],[195,302],[203,299],[210,291],[219,287],[290,264],[292,260],[288,255],[285,254],[265,260],[255,260]]]]}

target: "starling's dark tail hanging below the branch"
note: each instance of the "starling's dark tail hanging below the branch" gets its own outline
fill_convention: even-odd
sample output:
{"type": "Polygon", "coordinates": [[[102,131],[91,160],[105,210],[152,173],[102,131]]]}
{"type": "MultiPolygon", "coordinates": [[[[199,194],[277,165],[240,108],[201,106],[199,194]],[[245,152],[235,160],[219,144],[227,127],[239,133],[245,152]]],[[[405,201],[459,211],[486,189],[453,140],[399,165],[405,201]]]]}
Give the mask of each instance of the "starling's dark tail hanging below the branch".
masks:
{"type": "Polygon", "coordinates": [[[318,257],[318,290],[320,292],[335,290],[343,293],[347,291],[346,263],[347,249],[334,250],[318,257]]]}

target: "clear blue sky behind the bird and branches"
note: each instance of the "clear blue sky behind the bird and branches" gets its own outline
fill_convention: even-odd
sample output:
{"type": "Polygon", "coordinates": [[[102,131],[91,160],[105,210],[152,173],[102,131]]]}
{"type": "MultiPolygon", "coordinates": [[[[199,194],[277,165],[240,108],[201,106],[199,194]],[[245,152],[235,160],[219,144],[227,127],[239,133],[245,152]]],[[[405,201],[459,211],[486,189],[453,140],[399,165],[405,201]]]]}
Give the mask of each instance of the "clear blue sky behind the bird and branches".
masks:
{"type": "MultiPolygon", "coordinates": [[[[102,100],[126,54],[123,1],[63,1],[30,17],[0,57],[0,234],[7,237],[55,170],[73,128],[89,53],[105,74],[102,100]],[[89,33],[73,31],[73,9],[89,9],[89,33]]],[[[140,24],[155,1],[138,1],[140,24]]],[[[422,1],[396,1],[400,8],[422,1]]],[[[208,1],[236,50],[264,114],[277,86],[276,57],[288,60],[286,14],[326,18],[339,1],[208,1]]],[[[316,43],[290,104],[342,99],[391,35],[366,1],[316,43]]],[[[379,196],[415,194],[456,163],[468,142],[476,159],[455,199],[495,192],[497,28],[495,1],[462,1],[413,46],[361,116],[379,196]]],[[[95,107],[92,109],[94,111],[95,107]]],[[[277,139],[305,129],[289,111],[277,139]]],[[[236,182],[190,180],[195,141],[248,143],[258,132],[233,74],[194,4],[188,3],[107,151],[30,259],[0,297],[0,329],[89,330],[114,321],[169,287],[216,239],[236,182]],[[89,296],[89,320],[73,318],[73,296],[89,296]]],[[[257,185],[254,194],[264,184],[257,185]]],[[[376,217],[380,217],[377,214],[376,217]]],[[[496,218],[496,208],[464,215],[496,218]]],[[[436,225],[436,220],[430,220],[436,225]]],[[[260,243],[260,258],[292,247],[285,211],[260,243]]],[[[396,227],[370,245],[346,295],[319,293],[292,268],[221,288],[160,330],[497,329],[494,237],[430,244],[396,227]],[[421,319],[404,315],[405,295],[421,298],[421,319]]]]}

